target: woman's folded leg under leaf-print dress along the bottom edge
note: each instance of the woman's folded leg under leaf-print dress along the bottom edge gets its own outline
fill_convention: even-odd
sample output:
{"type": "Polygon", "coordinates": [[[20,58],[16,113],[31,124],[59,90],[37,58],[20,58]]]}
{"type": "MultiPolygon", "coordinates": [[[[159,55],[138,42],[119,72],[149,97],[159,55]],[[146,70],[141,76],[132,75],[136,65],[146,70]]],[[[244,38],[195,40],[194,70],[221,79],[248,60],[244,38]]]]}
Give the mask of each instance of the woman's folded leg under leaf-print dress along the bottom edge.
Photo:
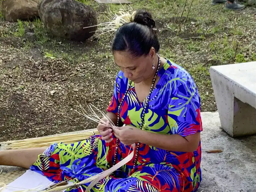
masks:
{"type": "MultiPolygon", "coordinates": [[[[86,186],[88,184],[82,185],[84,191],[86,186]]],[[[116,178],[113,175],[109,175],[100,180],[93,187],[93,191],[180,192],[183,191],[182,188],[183,181],[174,168],[165,165],[154,165],[152,167],[140,167],[136,172],[125,178],[116,178]]],[[[78,190],[75,192],[78,192],[78,190]]]]}

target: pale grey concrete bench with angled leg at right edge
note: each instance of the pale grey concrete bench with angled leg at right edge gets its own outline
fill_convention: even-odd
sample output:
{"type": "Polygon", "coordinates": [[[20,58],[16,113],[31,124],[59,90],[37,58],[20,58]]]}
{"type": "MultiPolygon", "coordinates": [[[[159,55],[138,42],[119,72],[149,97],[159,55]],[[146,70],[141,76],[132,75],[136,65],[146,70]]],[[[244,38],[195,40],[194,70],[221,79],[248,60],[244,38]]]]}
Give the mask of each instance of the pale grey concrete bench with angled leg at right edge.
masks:
{"type": "Polygon", "coordinates": [[[231,137],[256,134],[256,62],[210,67],[221,128],[231,137]]]}

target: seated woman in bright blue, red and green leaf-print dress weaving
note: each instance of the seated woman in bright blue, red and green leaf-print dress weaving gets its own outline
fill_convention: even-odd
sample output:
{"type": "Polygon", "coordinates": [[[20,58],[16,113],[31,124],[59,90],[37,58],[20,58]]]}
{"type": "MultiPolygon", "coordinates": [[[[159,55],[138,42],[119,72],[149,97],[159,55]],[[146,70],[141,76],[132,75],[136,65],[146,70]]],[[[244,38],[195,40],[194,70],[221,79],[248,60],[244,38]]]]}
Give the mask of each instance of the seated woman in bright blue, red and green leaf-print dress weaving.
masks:
{"type": "Polygon", "coordinates": [[[0,164],[30,168],[52,181],[81,181],[120,162],[135,143],[132,160],[91,191],[196,191],[201,182],[200,97],[187,71],[157,55],[154,27],[151,14],[138,11],[116,32],[112,50],[121,70],[107,109],[116,128],[103,118],[100,136],[47,149],[2,151],[0,164]]]}

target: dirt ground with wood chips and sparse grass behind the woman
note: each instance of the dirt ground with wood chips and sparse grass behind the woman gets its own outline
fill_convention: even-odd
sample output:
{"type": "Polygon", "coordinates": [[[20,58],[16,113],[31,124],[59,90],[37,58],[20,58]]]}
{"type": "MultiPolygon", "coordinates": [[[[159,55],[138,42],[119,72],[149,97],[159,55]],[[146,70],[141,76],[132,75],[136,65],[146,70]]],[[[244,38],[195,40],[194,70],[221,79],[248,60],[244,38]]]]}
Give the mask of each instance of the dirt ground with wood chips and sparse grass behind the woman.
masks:
{"type": "MultiPolygon", "coordinates": [[[[107,6],[93,0],[84,3],[98,12],[98,22],[108,21],[107,6]]],[[[256,60],[256,10],[247,7],[233,12],[225,10],[224,4],[195,0],[186,19],[190,2],[180,18],[183,4],[181,0],[132,0],[131,6],[134,10],[143,6],[153,13],[160,54],[193,76],[202,111],[215,111],[209,68],[256,60]]],[[[120,8],[110,5],[112,11],[120,8]]],[[[85,103],[102,111],[108,106],[118,71],[111,39],[106,35],[70,42],[52,37],[38,19],[1,20],[0,141],[94,128],[94,123],[74,110],[85,103]]]]}

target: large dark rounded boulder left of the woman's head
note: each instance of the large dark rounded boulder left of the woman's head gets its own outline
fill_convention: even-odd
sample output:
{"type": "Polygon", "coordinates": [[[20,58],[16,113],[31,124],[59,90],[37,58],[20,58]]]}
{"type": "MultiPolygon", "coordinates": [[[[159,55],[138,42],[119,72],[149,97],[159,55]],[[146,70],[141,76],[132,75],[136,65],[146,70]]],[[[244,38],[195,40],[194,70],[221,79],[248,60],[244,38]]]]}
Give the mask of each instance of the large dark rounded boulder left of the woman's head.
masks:
{"type": "Polygon", "coordinates": [[[42,0],[38,13],[52,35],[84,41],[94,35],[97,27],[96,12],[92,7],[76,0],[42,0]]]}

